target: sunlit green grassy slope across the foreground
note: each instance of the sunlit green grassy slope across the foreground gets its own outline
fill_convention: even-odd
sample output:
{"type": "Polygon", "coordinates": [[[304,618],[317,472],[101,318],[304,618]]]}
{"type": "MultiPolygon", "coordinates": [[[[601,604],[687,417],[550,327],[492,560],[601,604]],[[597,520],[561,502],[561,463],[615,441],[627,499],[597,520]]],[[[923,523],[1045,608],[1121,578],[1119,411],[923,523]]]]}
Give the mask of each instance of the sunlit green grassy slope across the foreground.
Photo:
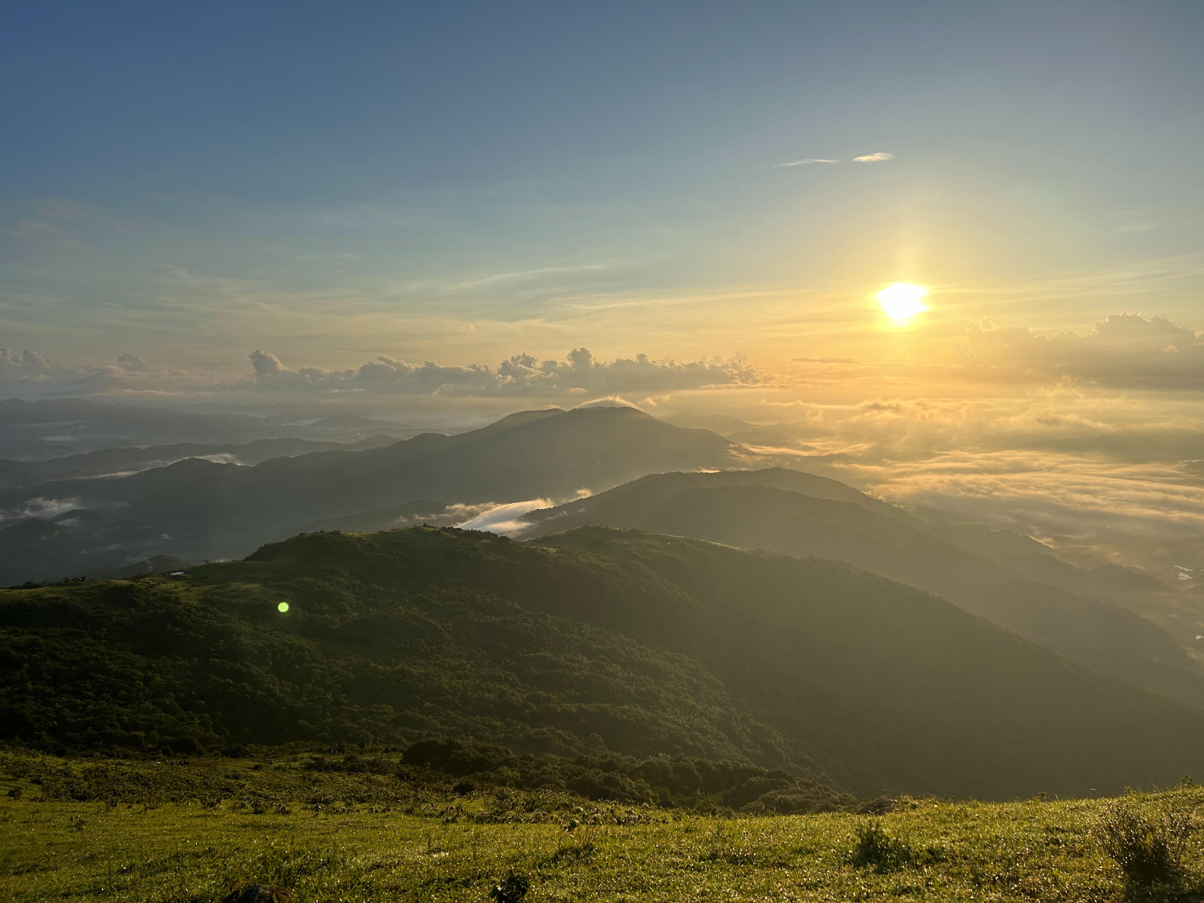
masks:
{"type": "MultiPolygon", "coordinates": [[[[8,768],[0,796],[0,898],[183,903],[275,884],[290,889],[293,903],[489,901],[513,872],[529,885],[525,897],[515,896],[520,880],[509,885],[510,896],[494,891],[494,899],[1198,899],[1193,889],[1204,868],[1196,836],[1182,834],[1182,864],[1170,884],[1127,884],[1102,845],[1102,820],[1117,804],[1102,799],[903,797],[881,815],[712,818],[585,802],[544,801],[541,808],[536,796],[504,791],[497,791],[501,801],[496,793],[442,802],[402,793],[390,802],[356,791],[347,775],[297,772],[318,797],[287,804],[281,793],[288,787],[279,784],[275,798],[255,791],[170,802],[170,792],[143,792],[154,786],[155,767],[165,774],[172,768],[130,766],[130,774],[148,773],[150,783],[114,784],[107,796],[55,785],[49,772],[37,784],[8,768]],[[61,798],[72,793],[105,798],[61,798]],[[122,803],[122,793],[141,802],[122,803]]],[[[222,769],[237,780],[271,774],[244,761],[188,768],[222,769]]],[[[388,786],[373,775],[355,780],[388,786]]],[[[1202,804],[1204,792],[1184,786],[1133,795],[1120,808],[1191,814],[1202,804]]],[[[1151,834],[1141,825],[1165,824],[1139,822],[1129,842],[1156,846],[1161,828],[1151,834]]]]}

